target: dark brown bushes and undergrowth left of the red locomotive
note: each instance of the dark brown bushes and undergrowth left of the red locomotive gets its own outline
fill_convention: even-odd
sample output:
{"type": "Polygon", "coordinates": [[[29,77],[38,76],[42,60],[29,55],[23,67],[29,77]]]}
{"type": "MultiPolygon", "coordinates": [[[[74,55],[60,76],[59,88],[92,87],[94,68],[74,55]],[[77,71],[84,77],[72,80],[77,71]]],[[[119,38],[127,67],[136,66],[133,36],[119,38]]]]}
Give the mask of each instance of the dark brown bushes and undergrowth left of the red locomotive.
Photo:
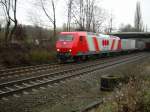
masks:
{"type": "Polygon", "coordinates": [[[0,63],[2,65],[24,66],[52,63],[56,60],[57,37],[53,37],[51,30],[20,25],[13,37],[14,39],[6,45],[3,29],[0,32],[0,63]]]}

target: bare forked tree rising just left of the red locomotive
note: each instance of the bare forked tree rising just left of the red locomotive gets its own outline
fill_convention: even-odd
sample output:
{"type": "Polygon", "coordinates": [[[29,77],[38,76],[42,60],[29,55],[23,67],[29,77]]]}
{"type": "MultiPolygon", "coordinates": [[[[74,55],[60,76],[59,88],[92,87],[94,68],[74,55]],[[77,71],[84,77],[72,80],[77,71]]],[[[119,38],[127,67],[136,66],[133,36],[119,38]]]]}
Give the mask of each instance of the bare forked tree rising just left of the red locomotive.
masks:
{"type": "Polygon", "coordinates": [[[53,24],[53,36],[56,37],[56,5],[54,3],[54,0],[50,0],[53,10],[53,16],[50,16],[50,13],[47,11],[45,7],[45,3],[47,0],[40,0],[42,9],[46,15],[46,17],[49,19],[49,21],[53,24]]]}

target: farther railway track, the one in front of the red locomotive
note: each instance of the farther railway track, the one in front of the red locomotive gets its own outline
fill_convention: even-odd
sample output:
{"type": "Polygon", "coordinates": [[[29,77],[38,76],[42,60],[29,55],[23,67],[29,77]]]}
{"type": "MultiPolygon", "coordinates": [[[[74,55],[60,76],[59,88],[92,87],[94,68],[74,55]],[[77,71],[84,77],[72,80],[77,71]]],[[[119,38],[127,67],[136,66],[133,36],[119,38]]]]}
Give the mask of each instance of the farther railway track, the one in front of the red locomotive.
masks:
{"type": "MultiPolygon", "coordinates": [[[[130,54],[132,55],[137,55],[137,54],[130,54]]],[[[127,55],[128,56],[128,55],[127,55]]],[[[37,65],[37,66],[28,66],[28,67],[19,67],[19,68],[13,68],[13,69],[8,69],[5,70],[5,72],[0,74],[0,84],[5,83],[8,81],[13,81],[13,80],[19,80],[22,78],[26,77],[33,77],[33,76],[38,76],[46,73],[52,73],[55,71],[64,71],[70,68],[75,68],[76,66],[85,66],[86,64],[93,64],[93,63],[103,63],[107,62],[109,60],[112,60],[114,57],[109,57],[109,58],[101,58],[100,60],[95,60],[95,61],[88,61],[84,63],[71,63],[71,64],[45,64],[45,65],[37,65]]],[[[118,56],[117,59],[122,58],[122,56],[118,56]]]]}

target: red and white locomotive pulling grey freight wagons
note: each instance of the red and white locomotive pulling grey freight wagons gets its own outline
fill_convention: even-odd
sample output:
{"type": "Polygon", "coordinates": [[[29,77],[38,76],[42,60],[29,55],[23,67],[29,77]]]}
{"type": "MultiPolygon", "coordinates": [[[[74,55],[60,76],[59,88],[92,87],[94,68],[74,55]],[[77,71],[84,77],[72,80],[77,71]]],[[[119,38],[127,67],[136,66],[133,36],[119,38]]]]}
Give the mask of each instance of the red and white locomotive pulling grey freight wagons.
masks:
{"type": "MultiPolygon", "coordinates": [[[[140,43],[140,42],[139,42],[140,43]]],[[[140,45],[142,45],[140,43],[140,45]]],[[[114,54],[142,49],[133,39],[91,32],[61,32],[56,42],[57,58],[67,60],[86,60],[93,55],[114,54]]],[[[142,46],[143,47],[143,46],[142,46]]]]}

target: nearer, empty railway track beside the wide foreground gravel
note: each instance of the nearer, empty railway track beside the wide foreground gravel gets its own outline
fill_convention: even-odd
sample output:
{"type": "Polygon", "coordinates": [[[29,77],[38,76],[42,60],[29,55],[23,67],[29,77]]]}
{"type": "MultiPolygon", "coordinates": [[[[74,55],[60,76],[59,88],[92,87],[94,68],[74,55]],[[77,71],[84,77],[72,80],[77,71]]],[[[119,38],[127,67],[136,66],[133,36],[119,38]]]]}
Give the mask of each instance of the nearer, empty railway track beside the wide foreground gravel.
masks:
{"type": "Polygon", "coordinates": [[[51,86],[51,84],[59,83],[61,81],[65,81],[66,79],[88,74],[96,70],[102,70],[116,65],[133,62],[146,56],[148,56],[148,54],[138,54],[132,57],[130,55],[122,57],[119,60],[117,58],[117,60],[113,59],[111,61],[109,60],[103,63],[97,62],[94,64],[83,65],[63,71],[56,71],[53,73],[2,83],[0,84],[0,98],[4,98],[18,93],[20,94],[24,91],[36,89],[43,86],[51,86]]]}

